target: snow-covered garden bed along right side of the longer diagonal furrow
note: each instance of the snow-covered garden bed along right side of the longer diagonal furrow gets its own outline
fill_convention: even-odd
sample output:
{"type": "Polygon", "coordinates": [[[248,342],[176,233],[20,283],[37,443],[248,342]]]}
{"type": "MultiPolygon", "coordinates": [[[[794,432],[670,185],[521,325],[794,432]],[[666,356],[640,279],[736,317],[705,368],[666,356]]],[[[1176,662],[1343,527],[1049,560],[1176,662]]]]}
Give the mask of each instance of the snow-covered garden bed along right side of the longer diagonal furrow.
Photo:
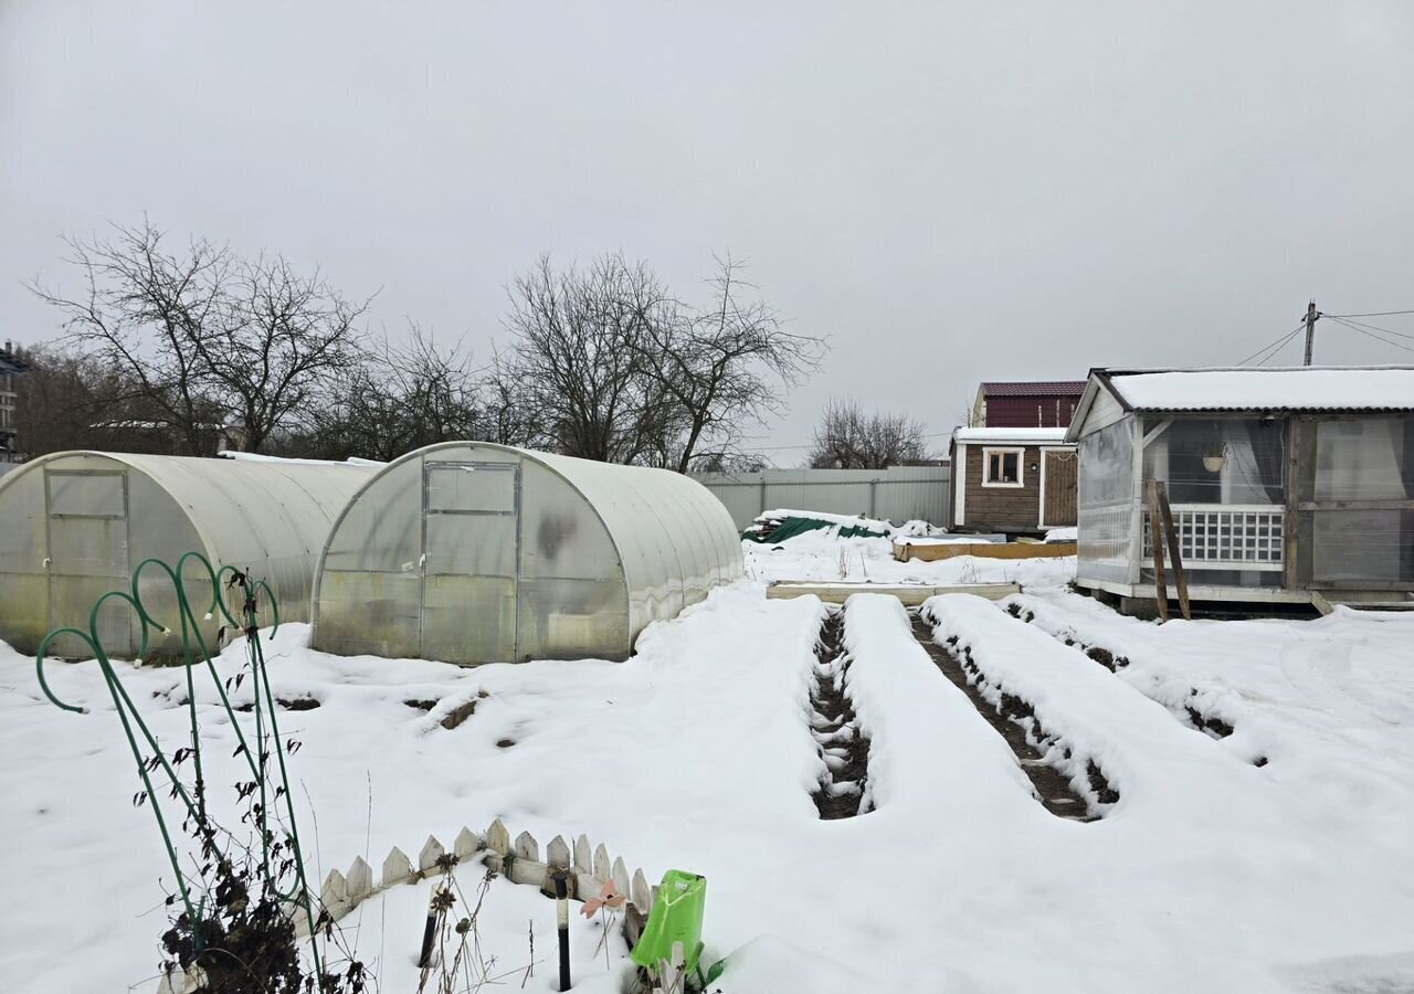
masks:
{"type": "Polygon", "coordinates": [[[1032,718],[1028,731],[1045,761],[1069,775],[1092,814],[1106,814],[1131,795],[1162,795],[1175,778],[1222,762],[1216,742],[1175,724],[1162,706],[990,601],[935,597],[923,616],[933,624],[935,641],[953,645],[976,667],[988,700],[1022,721],[1032,718]]]}

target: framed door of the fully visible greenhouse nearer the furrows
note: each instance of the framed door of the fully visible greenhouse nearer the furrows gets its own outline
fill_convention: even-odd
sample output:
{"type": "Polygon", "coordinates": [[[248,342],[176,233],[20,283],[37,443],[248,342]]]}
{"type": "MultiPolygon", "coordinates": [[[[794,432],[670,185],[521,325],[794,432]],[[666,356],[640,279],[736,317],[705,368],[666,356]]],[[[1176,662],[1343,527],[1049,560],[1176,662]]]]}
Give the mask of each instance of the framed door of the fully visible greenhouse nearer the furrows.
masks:
{"type": "Polygon", "coordinates": [[[423,468],[423,656],[509,663],[516,656],[520,467],[423,468]]]}

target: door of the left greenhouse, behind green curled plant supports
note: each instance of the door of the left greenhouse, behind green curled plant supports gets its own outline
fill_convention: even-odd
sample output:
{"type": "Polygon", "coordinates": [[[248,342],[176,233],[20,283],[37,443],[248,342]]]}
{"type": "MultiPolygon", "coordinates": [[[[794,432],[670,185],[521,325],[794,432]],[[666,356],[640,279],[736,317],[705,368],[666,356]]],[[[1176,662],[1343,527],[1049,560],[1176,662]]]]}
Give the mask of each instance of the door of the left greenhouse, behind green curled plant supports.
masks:
{"type": "MultiPolygon", "coordinates": [[[[45,571],[49,583],[49,629],[88,631],[93,602],[110,590],[127,590],[127,474],[44,471],[48,522],[45,571]]],[[[132,612],[123,601],[99,614],[98,636],[116,656],[132,650],[132,612]]],[[[61,656],[90,656],[74,638],[59,639],[61,656]]]]}

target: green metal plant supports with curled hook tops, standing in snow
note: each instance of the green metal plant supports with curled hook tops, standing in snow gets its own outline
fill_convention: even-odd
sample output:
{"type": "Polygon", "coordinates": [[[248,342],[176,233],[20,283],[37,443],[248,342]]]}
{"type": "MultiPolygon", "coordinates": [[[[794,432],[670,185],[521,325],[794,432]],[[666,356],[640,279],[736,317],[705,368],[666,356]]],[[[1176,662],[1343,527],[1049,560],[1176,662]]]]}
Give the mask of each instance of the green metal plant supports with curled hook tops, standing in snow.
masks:
{"type": "MultiPolygon", "coordinates": [[[[256,830],[260,836],[260,858],[264,879],[269,882],[274,896],[284,902],[294,902],[300,911],[304,912],[308,933],[312,937],[317,935],[318,920],[310,901],[310,887],[308,879],[305,878],[303,855],[304,847],[300,843],[294,816],[294,803],[290,792],[290,778],[286,768],[286,744],[280,739],[280,725],[279,718],[276,717],[274,696],[270,690],[270,679],[266,672],[264,662],[264,649],[260,641],[259,607],[262,600],[270,608],[274,622],[270,633],[274,635],[274,632],[280,628],[280,607],[264,580],[255,580],[250,574],[230,566],[222,567],[216,571],[199,553],[184,554],[177,560],[175,567],[158,559],[147,559],[139,563],[137,568],[133,570],[130,590],[109,591],[95,601],[93,609],[89,611],[89,626],[86,632],[78,628],[57,628],[44,636],[35,657],[35,672],[40,677],[40,689],[55,707],[75,714],[88,714],[88,708],[68,704],[54,694],[48,682],[44,679],[44,660],[49,650],[49,643],[62,635],[78,638],[93,653],[93,659],[98,660],[99,669],[103,673],[103,682],[107,686],[109,696],[113,700],[113,708],[122,723],[123,735],[127,738],[127,745],[133,752],[133,761],[137,764],[137,773],[143,780],[143,793],[146,793],[146,799],[151,802],[153,814],[157,819],[157,830],[161,833],[163,846],[167,850],[167,860],[171,863],[173,874],[177,881],[177,888],[187,911],[188,920],[197,926],[202,920],[202,911],[205,909],[208,895],[192,894],[191,881],[187,874],[182,872],[177,848],[173,844],[171,827],[167,816],[163,813],[163,805],[158,803],[160,795],[157,793],[157,789],[160,786],[165,786],[168,796],[181,802],[181,806],[185,809],[182,824],[185,826],[188,821],[195,824],[204,846],[209,847],[219,858],[225,858],[225,853],[221,850],[216,840],[216,831],[206,817],[206,792],[205,782],[202,779],[201,721],[197,714],[195,673],[198,667],[205,667],[206,673],[211,676],[212,684],[216,687],[216,694],[221,698],[221,707],[225,710],[230,728],[235,730],[236,739],[239,741],[236,752],[238,755],[245,756],[250,769],[252,780],[255,782],[255,795],[259,806],[252,807],[252,812],[255,814],[256,830]],[[197,612],[192,609],[185,587],[185,571],[188,564],[199,567],[201,573],[204,573],[205,578],[211,583],[211,604],[206,607],[201,621],[209,622],[219,612],[219,615],[225,619],[225,624],[229,624],[232,628],[246,635],[246,672],[250,674],[255,697],[252,708],[255,718],[253,741],[249,739],[242,730],[236,711],[226,694],[225,683],[212,662],[211,646],[202,636],[201,622],[198,621],[197,612]],[[177,592],[178,616],[175,618],[175,624],[178,625],[177,632],[181,636],[181,660],[187,679],[187,710],[191,727],[191,745],[189,752],[178,749],[171,758],[163,752],[157,738],[153,735],[147,723],[143,720],[143,715],[133,704],[133,698],[123,687],[122,680],[119,680],[117,673],[113,669],[113,663],[109,660],[107,652],[103,649],[98,635],[99,611],[102,611],[103,605],[109,601],[124,602],[133,614],[136,614],[137,621],[141,625],[139,657],[144,657],[147,655],[148,641],[154,632],[161,635],[173,633],[174,629],[168,624],[153,618],[147,607],[143,604],[140,581],[144,571],[148,570],[158,570],[165,574],[177,592]],[[226,590],[239,590],[242,592],[239,618],[230,612],[225,598],[222,597],[222,583],[225,583],[226,590]],[[181,762],[184,755],[191,756],[195,772],[195,780],[189,789],[185,783],[182,783],[175,769],[175,765],[181,762]],[[270,769],[271,759],[274,761],[273,771],[270,769]],[[163,783],[163,779],[165,783],[163,783]],[[270,802],[279,802],[280,799],[284,800],[284,816],[288,824],[293,850],[291,855],[294,860],[294,879],[288,891],[280,889],[279,874],[271,867],[270,850],[271,843],[274,841],[274,831],[271,829],[270,802]]],[[[194,928],[194,936],[199,942],[199,928],[194,928]]],[[[314,974],[317,977],[317,983],[320,984],[320,990],[322,990],[322,969],[320,964],[318,943],[311,942],[310,950],[314,960],[314,974]]]]}

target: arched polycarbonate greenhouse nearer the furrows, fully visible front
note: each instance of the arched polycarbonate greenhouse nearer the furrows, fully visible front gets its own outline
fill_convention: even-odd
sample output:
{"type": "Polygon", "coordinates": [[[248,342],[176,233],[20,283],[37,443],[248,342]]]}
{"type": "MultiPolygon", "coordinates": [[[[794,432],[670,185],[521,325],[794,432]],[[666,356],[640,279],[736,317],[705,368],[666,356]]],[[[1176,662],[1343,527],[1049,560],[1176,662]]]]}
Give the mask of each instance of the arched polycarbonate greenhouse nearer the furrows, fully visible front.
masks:
{"type": "Polygon", "coordinates": [[[314,646],[619,660],[649,622],[738,577],[731,516],[687,476],[445,443],[390,462],[344,509],[315,574],[314,646]]]}

